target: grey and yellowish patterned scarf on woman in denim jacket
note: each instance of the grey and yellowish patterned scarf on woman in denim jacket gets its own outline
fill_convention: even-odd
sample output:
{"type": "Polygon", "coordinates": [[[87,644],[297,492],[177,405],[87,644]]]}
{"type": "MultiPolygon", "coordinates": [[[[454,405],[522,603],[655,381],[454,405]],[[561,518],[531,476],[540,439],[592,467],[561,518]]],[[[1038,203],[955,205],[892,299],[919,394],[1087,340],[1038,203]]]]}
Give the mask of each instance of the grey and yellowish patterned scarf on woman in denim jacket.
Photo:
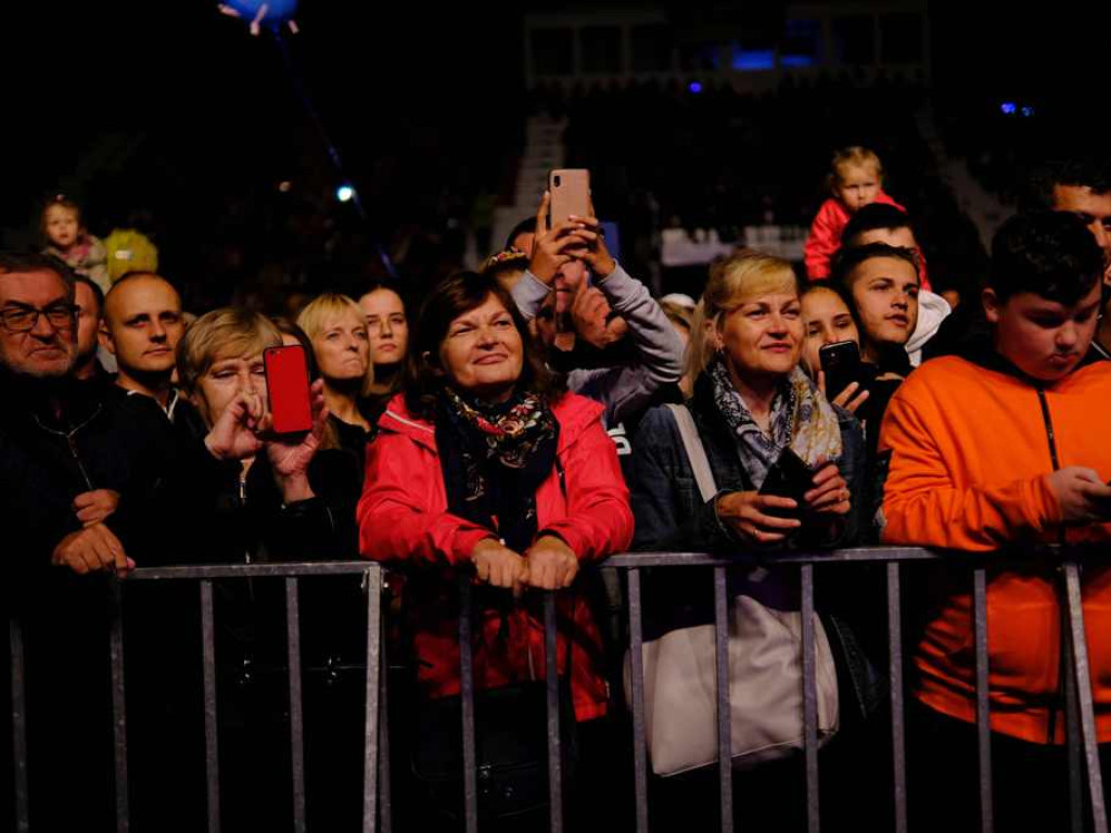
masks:
{"type": "Polygon", "coordinates": [[[837,413],[799,368],[782,381],[772,400],[768,433],[752,419],[725,362],[715,359],[707,372],[713,384],[713,401],[737,440],[741,463],[757,489],[763,485],[768,470],[783,449],[790,448],[812,469],[841,456],[837,413]]]}

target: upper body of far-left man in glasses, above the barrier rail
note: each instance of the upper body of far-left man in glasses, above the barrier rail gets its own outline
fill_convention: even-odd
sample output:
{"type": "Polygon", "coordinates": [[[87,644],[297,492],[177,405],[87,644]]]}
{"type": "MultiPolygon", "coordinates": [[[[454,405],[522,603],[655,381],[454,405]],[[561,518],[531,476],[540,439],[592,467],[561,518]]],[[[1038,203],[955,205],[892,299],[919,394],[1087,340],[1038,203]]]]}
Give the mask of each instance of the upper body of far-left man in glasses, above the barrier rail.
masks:
{"type": "Polygon", "coordinates": [[[19,543],[29,565],[124,573],[133,566],[124,548],[127,516],[142,513],[138,505],[121,509],[120,495],[133,492],[130,502],[147,502],[162,476],[158,411],[121,413],[101,391],[76,382],[77,358],[69,268],[48,255],[0,253],[6,525],[26,534],[19,543]]]}

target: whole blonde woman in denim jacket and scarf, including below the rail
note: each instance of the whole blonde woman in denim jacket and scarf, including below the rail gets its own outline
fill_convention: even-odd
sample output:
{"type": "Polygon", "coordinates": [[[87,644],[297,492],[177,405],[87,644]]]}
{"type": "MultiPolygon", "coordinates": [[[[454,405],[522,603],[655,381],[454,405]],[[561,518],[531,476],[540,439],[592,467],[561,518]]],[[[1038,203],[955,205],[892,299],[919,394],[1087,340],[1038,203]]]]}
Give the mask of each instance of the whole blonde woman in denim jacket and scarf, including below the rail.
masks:
{"type": "MultiPolygon", "coordinates": [[[[709,496],[703,498],[703,482],[680,429],[680,419],[685,422],[688,414],[671,405],[653,408],[642,419],[632,438],[630,478],[634,549],[763,551],[767,570],[758,571],[758,578],[741,564],[731,573],[730,586],[741,595],[778,599],[785,602],[781,609],[794,611],[798,576],[777,569],[774,553],[852,541],[853,509],[864,473],[860,425],[831,405],[799,367],[804,339],[799,281],[789,263],[741,251],[714,264],[691,325],[688,373],[693,395],[687,404],[712,489],[707,488],[709,496]],[[772,473],[792,455],[797,466],[809,470],[809,482],[794,484],[791,478],[792,488],[775,488],[772,473]]],[[[693,438],[687,439],[693,448],[693,438]]],[[[650,575],[644,592],[653,610],[652,629],[668,632],[712,623],[705,578],[674,571],[650,575]]],[[[834,662],[841,655],[862,656],[849,629],[827,626],[825,632],[841,646],[833,651],[834,662]]],[[[842,720],[872,703],[870,676],[862,668],[837,668],[838,688],[845,692],[840,697],[842,720]],[[855,684],[845,685],[848,680],[855,684]],[[855,710],[845,707],[852,701],[855,710]]],[[[733,720],[740,719],[734,714],[733,720]]],[[[715,779],[715,773],[703,775],[705,783],[698,773],[668,781],[675,792],[661,812],[673,812],[674,817],[662,820],[661,829],[682,824],[702,830],[711,823],[691,815],[697,802],[690,791],[715,779]]],[[[734,806],[744,807],[744,825],[761,831],[793,827],[795,820],[784,807],[803,804],[797,781],[793,770],[787,772],[780,764],[763,764],[735,779],[734,806]]]]}

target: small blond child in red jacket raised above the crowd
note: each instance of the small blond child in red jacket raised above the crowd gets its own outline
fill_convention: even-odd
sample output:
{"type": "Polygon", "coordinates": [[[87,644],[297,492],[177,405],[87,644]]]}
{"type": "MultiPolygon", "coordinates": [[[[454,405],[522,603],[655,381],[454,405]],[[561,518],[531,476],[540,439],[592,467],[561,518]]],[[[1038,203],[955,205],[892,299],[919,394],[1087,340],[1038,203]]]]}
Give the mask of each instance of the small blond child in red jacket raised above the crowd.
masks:
{"type": "Polygon", "coordinates": [[[830,258],[841,248],[841,232],[857,211],[872,202],[902,209],[884,193],[883,165],[867,148],[853,145],[834,153],[829,183],[833,195],[818,210],[807,238],[807,275],[812,281],[830,277],[830,258]]]}

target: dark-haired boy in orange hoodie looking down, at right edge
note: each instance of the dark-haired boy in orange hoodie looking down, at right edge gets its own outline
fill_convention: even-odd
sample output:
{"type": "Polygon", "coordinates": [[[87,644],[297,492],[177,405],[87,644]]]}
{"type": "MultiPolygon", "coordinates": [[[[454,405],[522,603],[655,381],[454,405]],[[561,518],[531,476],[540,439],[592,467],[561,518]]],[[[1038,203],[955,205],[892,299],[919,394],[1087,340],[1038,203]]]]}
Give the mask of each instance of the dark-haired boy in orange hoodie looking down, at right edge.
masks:
{"type": "MultiPolygon", "coordinates": [[[[1102,271],[1099,247],[1073,215],[1019,215],[1000,229],[982,295],[991,347],[927,362],[888,407],[880,435],[881,454],[891,453],[885,543],[983,552],[988,561],[1012,543],[1111,541],[1111,362],[1090,351],[1102,271]]],[[[1000,831],[1065,825],[1055,576],[1050,563],[989,573],[1000,831]]],[[[912,650],[920,705],[911,752],[924,762],[912,789],[930,797],[912,815],[929,817],[922,830],[931,831],[978,819],[971,578],[957,570],[938,579],[912,650]]],[[[1085,568],[1083,593],[1097,733],[1107,743],[1111,569],[1085,568]]]]}

